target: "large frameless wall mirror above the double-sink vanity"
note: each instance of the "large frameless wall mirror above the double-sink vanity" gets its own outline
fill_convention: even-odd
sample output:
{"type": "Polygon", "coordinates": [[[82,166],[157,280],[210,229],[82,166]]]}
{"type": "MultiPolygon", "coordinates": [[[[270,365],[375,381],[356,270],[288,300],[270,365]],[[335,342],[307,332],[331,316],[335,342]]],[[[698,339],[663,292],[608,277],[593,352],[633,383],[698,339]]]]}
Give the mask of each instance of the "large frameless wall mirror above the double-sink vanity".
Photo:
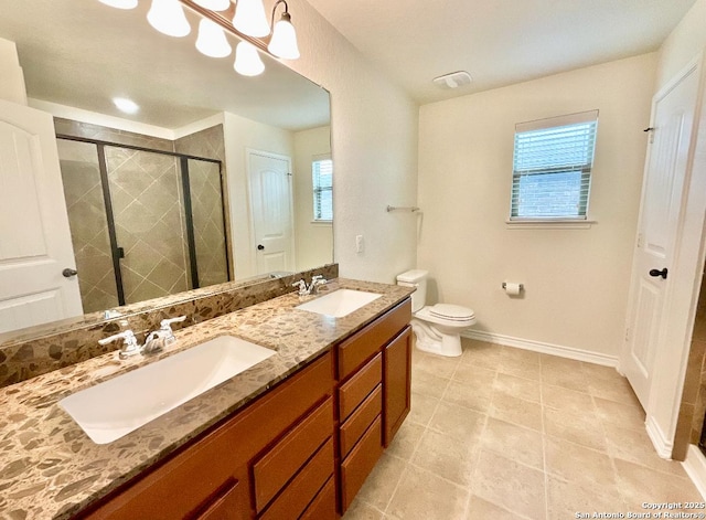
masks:
{"type": "MultiPolygon", "coordinates": [[[[149,7],[0,0],[0,51],[17,45],[29,106],[53,117],[81,297],[69,316],[333,262],[328,92],[265,55],[261,75],[242,76],[234,54],[195,49],[197,13],[170,38],[149,7]]],[[[2,216],[7,244],[33,233],[23,212],[2,216]]],[[[7,301],[0,342],[36,325],[7,301]]]]}

